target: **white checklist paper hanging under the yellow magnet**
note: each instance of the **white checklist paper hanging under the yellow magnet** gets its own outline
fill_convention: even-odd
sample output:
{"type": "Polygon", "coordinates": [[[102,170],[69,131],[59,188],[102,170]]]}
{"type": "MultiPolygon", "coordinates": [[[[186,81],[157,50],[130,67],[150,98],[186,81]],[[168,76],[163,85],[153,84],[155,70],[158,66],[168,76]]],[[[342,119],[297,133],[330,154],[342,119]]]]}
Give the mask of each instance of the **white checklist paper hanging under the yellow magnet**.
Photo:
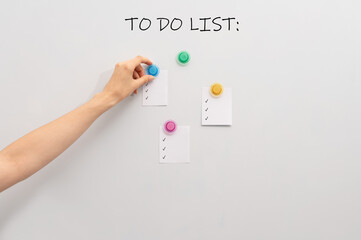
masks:
{"type": "Polygon", "coordinates": [[[202,88],[202,125],[232,125],[232,89],[224,88],[213,97],[209,87],[202,88]]]}

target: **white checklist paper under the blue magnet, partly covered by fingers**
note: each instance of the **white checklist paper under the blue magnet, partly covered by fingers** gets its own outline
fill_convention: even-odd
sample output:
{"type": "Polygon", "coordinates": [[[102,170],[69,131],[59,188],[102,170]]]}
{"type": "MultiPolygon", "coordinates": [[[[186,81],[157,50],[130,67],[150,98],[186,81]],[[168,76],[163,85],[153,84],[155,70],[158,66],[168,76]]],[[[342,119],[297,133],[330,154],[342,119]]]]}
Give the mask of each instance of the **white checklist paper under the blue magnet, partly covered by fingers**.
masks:
{"type": "Polygon", "coordinates": [[[160,70],[155,79],[143,86],[143,106],[168,105],[168,71],[160,70]]]}

